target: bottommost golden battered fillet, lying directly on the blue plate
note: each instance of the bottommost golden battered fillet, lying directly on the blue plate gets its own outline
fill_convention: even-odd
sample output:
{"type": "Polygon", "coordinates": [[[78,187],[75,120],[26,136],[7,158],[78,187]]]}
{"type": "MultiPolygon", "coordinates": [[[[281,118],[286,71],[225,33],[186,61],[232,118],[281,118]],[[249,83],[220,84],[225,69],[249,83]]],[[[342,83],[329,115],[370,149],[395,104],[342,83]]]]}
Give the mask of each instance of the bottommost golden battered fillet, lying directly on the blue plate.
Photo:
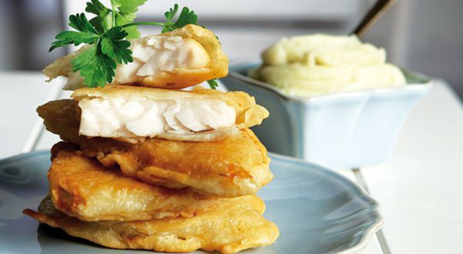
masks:
{"type": "Polygon", "coordinates": [[[274,223],[267,221],[248,202],[221,203],[190,218],[171,218],[135,222],[84,222],[56,210],[45,198],[38,212],[24,214],[69,235],[119,249],[150,249],[159,252],[218,250],[224,254],[267,246],[279,236],[274,223]]]}

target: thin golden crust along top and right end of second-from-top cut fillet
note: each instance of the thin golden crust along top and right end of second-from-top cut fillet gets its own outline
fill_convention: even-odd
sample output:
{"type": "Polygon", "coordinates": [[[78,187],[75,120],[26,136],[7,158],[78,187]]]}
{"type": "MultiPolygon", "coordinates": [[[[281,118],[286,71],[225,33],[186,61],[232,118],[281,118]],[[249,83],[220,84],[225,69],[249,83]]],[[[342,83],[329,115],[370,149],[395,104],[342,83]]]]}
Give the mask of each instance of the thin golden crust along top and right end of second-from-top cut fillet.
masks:
{"type": "Polygon", "coordinates": [[[76,101],[83,98],[147,98],[150,100],[174,100],[194,98],[224,101],[235,109],[238,129],[259,125],[269,117],[269,111],[256,104],[254,97],[245,92],[221,92],[195,87],[191,91],[176,91],[133,86],[106,86],[104,88],[81,88],[71,95],[76,101]]]}

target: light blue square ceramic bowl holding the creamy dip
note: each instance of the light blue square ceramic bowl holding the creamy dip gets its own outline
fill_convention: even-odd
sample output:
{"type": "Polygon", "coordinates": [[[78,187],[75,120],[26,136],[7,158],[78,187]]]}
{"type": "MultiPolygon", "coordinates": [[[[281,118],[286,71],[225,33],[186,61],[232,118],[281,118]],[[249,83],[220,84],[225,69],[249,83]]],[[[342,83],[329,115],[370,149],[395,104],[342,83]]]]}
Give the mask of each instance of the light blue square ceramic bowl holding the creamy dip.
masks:
{"type": "Polygon", "coordinates": [[[431,86],[425,77],[404,71],[407,86],[302,98],[246,76],[257,66],[233,64],[221,81],[269,110],[270,117],[252,128],[259,139],[271,152],[336,169],[387,159],[403,122],[431,86]]]}

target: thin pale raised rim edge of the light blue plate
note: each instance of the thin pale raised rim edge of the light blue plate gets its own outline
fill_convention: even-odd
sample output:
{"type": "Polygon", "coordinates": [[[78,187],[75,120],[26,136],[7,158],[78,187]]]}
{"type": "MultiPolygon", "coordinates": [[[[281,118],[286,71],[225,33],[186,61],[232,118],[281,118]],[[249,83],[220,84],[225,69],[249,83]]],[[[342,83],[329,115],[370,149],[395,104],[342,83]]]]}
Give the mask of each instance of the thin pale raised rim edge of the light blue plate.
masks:
{"type": "MultiPolygon", "coordinates": [[[[0,164],[11,163],[12,161],[16,161],[16,160],[19,160],[19,159],[26,159],[26,158],[29,158],[29,157],[34,157],[34,156],[47,154],[47,153],[49,154],[50,151],[49,150],[35,150],[35,151],[32,151],[32,152],[19,153],[17,155],[11,156],[11,157],[0,159],[0,164]]],[[[278,153],[275,153],[275,152],[268,152],[268,154],[269,154],[269,157],[271,159],[275,158],[275,159],[280,159],[280,160],[283,160],[283,161],[286,160],[286,161],[297,163],[297,164],[308,165],[308,166],[310,166],[310,167],[312,167],[312,168],[314,168],[314,169],[316,169],[318,171],[322,171],[323,173],[328,174],[328,175],[330,175],[332,177],[341,179],[344,182],[347,182],[350,185],[352,185],[352,187],[355,188],[358,191],[358,193],[362,195],[363,198],[368,199],[371,203],[373,203],[375,205],[374,211],[375,211],[375,214],[378,216],[377,217],[377,219],[378,219],[377,222],[375,222],[373,225],[369,226],[369,228],[365,230],[365,233],[362,235],[362,237],[360,238],[360,241],[358,241],[358,243],[356,245],[351,246],[350,248],[344,249],[342,251],[336,252],[335,254],[358,253],[359,251],[361,251],[361,250],[363,250],[364,248],[367,247],[367,245],[369,243],[369,240],[371,240],[371,238],[374,236],[374,234],[376,234],[376,232],[378,232],[382,228],[382,226],[384,224],[384,216],[381,213],[381,210],[382,210],[381,209],[381,204],[375,198],[371,197],[371,195],[366,190],[364,190],[362,187],[360,187],[357,183],[355,183],[351,179],[346,178],[345,176],[338,173],[337,171],[330,170],[327,167],[324,167],[322,165],[318,165],[318,164],[309,162],[307,160],[298,159],[298,158],[278,154],[278,153]]]]}

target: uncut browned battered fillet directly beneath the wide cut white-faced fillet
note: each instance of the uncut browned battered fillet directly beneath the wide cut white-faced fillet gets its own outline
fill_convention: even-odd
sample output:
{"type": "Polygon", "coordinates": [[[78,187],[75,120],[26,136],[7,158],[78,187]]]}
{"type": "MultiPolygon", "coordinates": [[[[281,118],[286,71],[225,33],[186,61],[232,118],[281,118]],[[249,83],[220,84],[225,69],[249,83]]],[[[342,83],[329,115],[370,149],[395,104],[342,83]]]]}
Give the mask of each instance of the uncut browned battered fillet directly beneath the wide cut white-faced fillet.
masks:
{"type": "Polygon", "coordinates": [[[256,193],[273,177],[267,150],[249,129],[214,142],[149,138],[131,144],[79,135],[72,100],[48,102],[37,111],[50,132],[79,145],[83,155],[106,167],[118,164],[125,176],[148,183],[238,197],[256,193]]]}

